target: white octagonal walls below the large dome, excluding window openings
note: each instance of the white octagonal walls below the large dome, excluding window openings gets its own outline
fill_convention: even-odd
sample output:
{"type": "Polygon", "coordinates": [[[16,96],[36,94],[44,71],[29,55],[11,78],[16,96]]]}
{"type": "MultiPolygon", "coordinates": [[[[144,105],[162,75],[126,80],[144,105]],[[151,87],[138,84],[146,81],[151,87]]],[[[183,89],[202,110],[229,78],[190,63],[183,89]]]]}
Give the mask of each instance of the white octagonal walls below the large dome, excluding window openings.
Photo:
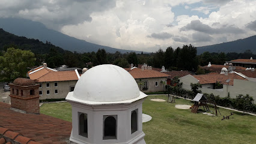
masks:
{"type": "Polygon", "coordinates": [[[70,140],[76,143],[144,143],[142,131],[142,102],[132,104],[88,106],[72,104],[72,134],[70,140]],[[131,112],[138,109],[138,130],[131,134],[131,112]],[[78,113],[86,113],[88,118],[88,137],[79,135],[78,113]],[[117,139],[103,139],[104,116],[117,115],[117,139]],[[134,141],[134,142],[133,142],[134,141]]]}

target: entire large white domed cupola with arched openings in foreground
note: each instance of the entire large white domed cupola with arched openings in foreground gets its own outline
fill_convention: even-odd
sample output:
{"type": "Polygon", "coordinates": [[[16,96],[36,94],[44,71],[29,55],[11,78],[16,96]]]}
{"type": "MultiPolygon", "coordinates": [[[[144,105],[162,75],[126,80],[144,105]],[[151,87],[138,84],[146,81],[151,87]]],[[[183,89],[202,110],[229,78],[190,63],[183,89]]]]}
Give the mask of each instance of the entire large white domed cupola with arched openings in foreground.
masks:
{"type": "Polygon", "coordinates": [[[116,65],[98,65],[82,74],[66,100],[72,105],[75,143],[145,144],[142,103],[133,77],[116,65]]]}

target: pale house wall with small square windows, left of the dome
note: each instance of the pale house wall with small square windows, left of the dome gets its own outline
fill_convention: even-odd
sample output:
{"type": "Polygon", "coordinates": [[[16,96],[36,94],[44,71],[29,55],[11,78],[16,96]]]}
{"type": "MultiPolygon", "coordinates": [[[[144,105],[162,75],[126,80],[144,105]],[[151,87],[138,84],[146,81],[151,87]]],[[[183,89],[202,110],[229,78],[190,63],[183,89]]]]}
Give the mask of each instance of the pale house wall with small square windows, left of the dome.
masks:
{"type": "Polygon", "coordinates": [[[39,88],[39,91],[43,91],[43,95],[40,95],[40,100],[45,99],[57,99],[57,98],[66,98],[67,94],[70,92],[70,87],[75,86],[77,80],[62,81],[57,82],[58,86],[54,86],[55,82],[42,82],[42,88],[39,88]],[[50,87],[46,87],[46,83],[50,83],[50,87]],[[55,94],[55,89],[58,89],[58,94],[55,94]],[[50,90],[50,94],[47,95],[46,91],[50,90]]]}

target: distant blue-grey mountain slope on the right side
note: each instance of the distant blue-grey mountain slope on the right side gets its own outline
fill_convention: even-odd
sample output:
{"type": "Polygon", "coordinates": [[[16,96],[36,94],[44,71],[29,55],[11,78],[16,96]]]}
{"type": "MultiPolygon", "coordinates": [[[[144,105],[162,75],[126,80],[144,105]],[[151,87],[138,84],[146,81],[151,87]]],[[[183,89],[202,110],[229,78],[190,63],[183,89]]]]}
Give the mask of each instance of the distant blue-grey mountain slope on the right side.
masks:
{"type": "Polygon", "coordinates": [[[230,41],[227,43],[213,44],[210,46],[197,47],[197,54],[200,55],[203,52],[236,52],[243,53],[245,50],[251,50],[256,54],[256,35],[236,41],[230,41]]]}

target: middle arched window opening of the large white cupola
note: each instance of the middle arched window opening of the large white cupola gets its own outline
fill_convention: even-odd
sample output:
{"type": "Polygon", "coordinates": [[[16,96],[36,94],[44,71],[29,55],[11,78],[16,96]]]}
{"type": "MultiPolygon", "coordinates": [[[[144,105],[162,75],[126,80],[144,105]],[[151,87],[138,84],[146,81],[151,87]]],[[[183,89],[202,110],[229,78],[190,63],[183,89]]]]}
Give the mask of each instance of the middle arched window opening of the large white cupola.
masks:
{"type": "Polygon", "coordinates": [[[103,116],[103,139],[117,139],[117,115],[103,116]]]}

